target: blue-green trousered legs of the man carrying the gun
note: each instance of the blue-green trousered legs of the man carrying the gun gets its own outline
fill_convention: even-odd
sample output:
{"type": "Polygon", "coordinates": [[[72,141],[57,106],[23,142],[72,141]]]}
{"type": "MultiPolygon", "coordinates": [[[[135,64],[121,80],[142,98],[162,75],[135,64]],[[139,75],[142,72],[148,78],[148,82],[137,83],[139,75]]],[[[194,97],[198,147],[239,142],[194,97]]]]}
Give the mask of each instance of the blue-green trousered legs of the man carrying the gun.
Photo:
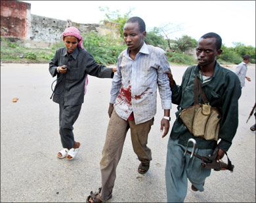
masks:
{"type": "MultiPolygon", "coordinates": [[[[188,179],[198,191],[203,191],[206,177],[211,174],[210,169],[203,168],[199,158],[192,157],[184,152],[186,146],[178,143],[179,139],[168,141],[167,160],[165,166],[165,183],[167,189],[167,202],[184,202],[187,194],[188,179]]],[[[192,151],[192,147],[188,147],[192,151]]],[[[208,157],[213,149],[198,149],[196,154],[208,157]]]]}

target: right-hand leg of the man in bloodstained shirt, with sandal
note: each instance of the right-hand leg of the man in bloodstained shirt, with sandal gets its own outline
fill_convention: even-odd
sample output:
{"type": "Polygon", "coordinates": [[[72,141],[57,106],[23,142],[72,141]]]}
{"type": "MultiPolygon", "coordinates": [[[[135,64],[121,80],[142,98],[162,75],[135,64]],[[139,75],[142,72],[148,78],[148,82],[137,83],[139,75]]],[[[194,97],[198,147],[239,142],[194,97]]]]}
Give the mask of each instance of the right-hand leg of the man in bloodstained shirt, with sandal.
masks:
{"type": "Polygon", "coordinates": [[[145,174],[150,168],[150,160],[152,160],[151,150],[146,145],[148,143],[148,134],[151,126],[154,124],[154,118],[141,124],[135,124],[135,120],[128,120],[131,129],[131,141],[133,143],[133,151],[140,160],[138,172],[145,174]]]}

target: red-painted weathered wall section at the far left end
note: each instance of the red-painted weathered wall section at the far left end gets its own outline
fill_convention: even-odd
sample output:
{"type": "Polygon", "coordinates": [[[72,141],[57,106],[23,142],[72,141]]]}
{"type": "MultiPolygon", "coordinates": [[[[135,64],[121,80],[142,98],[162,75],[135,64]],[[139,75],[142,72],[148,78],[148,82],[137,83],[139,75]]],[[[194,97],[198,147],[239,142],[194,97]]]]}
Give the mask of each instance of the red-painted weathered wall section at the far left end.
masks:
{"type": "Polygon", "coordinates": [[[1,1],[1,36],[30,38],[30,3],[1,1]]]}

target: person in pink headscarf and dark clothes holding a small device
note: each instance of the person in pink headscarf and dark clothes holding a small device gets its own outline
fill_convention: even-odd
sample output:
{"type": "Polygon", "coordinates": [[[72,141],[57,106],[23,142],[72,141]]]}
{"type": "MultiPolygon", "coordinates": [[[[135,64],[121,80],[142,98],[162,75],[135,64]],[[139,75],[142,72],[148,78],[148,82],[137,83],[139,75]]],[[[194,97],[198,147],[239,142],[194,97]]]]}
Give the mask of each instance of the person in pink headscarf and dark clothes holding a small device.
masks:
{"type": "Polygon", "coordinates": [[[58,103],[60,108],[59,132],[63,147],[58,152],[58,158],[71,160],[80,147],[80,143],[74,139],[73,125],[87,91],[87,75],[113,78],[116,69],[95,62],[93,56],[83,48],[83,37],[77,28],[66,28],[62,37],[65,46],[56,50],[49,71],[53,77],[57,75],[53,102],[58,103]]]}

